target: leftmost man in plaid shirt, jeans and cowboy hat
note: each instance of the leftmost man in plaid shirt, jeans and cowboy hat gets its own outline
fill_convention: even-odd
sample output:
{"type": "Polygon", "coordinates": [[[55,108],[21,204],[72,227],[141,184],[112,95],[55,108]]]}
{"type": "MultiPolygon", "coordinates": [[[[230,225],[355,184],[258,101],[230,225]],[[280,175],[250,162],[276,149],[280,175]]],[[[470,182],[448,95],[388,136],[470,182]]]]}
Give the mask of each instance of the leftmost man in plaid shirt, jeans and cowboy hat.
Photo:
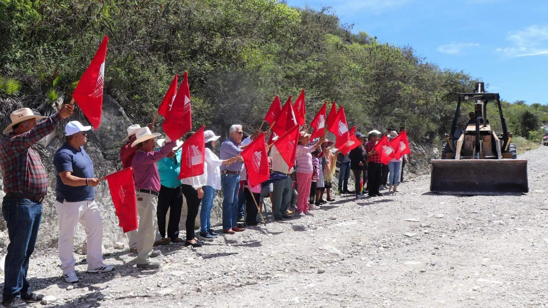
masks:
{"type": "Polygon", "coordinates": [[[27,307],[28,303],[37,303],[44,297],[31,292],[26,278],[42,219],[42,201],[48,192],[45,168],[31,146],[53,133],[57,123],[73,111],[73,105],[64,105],[37,124],[37,119],[45,117],[21,108],[12,112],[12,123],[4,129],[7,136],[0,141],[0,170],[5,192],[2,214],[9,236],[2,293],[4,307],[27,307]]]}

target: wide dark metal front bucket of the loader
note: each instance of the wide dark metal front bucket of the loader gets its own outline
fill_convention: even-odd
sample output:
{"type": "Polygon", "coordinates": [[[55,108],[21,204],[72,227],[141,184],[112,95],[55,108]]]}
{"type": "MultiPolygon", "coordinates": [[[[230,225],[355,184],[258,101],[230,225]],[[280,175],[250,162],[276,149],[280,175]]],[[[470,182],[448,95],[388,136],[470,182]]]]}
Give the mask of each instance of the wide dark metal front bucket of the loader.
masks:
{"type": "Polygon", "coordinates": [[[527,159],[433,159],[430,191],[446,195],[528,192],[527,159]]]}

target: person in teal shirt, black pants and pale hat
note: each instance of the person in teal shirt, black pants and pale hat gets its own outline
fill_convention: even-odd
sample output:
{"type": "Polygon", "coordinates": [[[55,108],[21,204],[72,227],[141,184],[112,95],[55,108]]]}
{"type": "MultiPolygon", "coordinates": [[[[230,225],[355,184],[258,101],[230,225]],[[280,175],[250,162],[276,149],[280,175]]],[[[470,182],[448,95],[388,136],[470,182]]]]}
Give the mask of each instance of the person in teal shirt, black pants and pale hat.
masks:
{"type": "MultiPolygon", "coordinates": [[[[158,139],[160,147],[169,142],[169,137],[158,139]]],[[[176,140],[173,151],[175,155],[171,158],[164,157],[156,164],[158,165],[158,174],[160,175],[160,191],[158,194],[158,232],[160,238],[156,238],[156,245],[167,244],[170,241],[180,243],[183,240],[179,238],[179,221],[181,220],[182,210],[182,191],[179,173],[181,172],[181,149],[182,141],[176,140]],[[169,210],[169,222],[167,228],[167,237],[165,233],[165,216],[169,210]]]]}

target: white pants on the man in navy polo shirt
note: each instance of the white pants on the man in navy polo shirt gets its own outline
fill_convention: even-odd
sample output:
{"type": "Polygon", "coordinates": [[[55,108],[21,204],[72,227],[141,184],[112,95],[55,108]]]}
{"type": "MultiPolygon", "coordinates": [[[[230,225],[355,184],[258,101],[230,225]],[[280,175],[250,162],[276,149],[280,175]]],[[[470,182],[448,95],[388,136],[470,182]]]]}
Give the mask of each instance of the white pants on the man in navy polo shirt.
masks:
{"type": "Polygon", "coordinates": [[[76,260],[72,252],[78,221],[85,230],[88,270],[102,266],[102,222],[95,200],[63,203],[56,201],[55,209],[59,214],[59,259],[63,273],[74,271],[76,260]]]}

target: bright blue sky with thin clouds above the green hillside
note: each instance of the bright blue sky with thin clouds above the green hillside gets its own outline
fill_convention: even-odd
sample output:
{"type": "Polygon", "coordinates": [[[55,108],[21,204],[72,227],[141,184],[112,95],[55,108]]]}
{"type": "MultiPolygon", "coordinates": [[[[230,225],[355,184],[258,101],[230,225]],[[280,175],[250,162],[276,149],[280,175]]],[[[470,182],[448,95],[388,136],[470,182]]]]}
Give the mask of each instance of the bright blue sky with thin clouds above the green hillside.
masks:
{"type": "Polygon", "coordinates": [[[548,0],[287,0],[332,7],[353,32],[410,45],[463,70],[507,101],[548,104],[548,0]]]}

